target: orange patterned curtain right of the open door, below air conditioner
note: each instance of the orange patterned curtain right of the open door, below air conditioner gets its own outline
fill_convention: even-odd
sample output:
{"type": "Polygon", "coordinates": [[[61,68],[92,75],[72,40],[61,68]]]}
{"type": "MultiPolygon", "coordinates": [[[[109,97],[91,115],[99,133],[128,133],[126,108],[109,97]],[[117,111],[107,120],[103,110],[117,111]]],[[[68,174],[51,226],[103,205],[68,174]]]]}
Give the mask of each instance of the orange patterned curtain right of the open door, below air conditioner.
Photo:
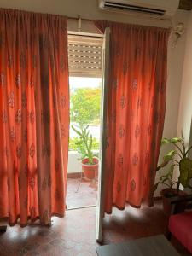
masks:
{"type": "Polygon", "coordinates": [[[152,203],[166,108],[169,30],[96,20],[110,27],[105,212],[152,203]]]}

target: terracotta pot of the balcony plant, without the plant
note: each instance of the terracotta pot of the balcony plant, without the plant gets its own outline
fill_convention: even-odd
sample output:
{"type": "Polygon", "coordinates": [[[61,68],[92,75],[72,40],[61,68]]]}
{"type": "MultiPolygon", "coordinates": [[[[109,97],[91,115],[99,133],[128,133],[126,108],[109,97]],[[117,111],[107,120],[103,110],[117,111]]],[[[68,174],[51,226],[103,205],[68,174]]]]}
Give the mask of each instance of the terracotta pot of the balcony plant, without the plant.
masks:
{"type": "Polygon", "coordinates": [[[82,160],[82,171],[84,172],[84,177],[87,179],[94,179],[98,176],[99,160],[94,157],[94,165],[89,165],[88,162],[88,158],[84,158],[84,160],[82,160]]]}

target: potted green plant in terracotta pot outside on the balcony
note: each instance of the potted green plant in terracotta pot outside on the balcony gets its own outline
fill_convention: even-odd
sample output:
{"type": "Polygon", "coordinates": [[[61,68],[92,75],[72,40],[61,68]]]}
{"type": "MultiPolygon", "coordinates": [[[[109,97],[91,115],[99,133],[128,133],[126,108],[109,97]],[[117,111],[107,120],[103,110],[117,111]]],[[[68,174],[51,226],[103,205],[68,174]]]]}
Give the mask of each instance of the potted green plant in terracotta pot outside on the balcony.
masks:
{"type": "Polygon", "coordinates": [[[89,125],[79,125],[74,127],[73,131],[79,135],[79,140],[76,142],[79,153],[81,154],[82,172],[87,179],[94,179],[98,175],[99,160],[97,154],[93,152],[93,137],[89,131],[89,125]]]}

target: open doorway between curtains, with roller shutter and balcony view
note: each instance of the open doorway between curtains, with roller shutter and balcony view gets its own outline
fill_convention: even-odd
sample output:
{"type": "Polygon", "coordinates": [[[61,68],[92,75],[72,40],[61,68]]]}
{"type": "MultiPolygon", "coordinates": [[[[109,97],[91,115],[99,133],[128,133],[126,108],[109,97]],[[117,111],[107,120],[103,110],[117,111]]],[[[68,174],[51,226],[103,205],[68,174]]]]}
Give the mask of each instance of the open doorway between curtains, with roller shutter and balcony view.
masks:
{"type": "MultiPolygon", "coordinates": [[[[102,102],[102,35],[68,36],[70,86],[70,139],[67,170],[67,209],[96,206],[98,171],[92,176],[82,168],[91,152],[99,159],[102,102]],[[82,143],[85,133],[87,146],[82,143]]],[[[85,166],[86,167],[86,166],[85,166]]]]}

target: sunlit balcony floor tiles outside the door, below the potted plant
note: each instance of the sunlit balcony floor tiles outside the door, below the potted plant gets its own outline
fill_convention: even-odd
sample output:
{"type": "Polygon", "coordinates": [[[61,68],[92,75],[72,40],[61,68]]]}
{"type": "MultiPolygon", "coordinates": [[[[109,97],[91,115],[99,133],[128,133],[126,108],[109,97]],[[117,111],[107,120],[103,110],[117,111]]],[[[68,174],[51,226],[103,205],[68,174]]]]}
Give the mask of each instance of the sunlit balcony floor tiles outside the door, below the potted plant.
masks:
{"type": "Polygon", "coordinates": [[[83,178],[80,182],[79,178],[67,178],[67,209],[94,205],[96,205],[96,180],[88,181],[83,178]]]}

